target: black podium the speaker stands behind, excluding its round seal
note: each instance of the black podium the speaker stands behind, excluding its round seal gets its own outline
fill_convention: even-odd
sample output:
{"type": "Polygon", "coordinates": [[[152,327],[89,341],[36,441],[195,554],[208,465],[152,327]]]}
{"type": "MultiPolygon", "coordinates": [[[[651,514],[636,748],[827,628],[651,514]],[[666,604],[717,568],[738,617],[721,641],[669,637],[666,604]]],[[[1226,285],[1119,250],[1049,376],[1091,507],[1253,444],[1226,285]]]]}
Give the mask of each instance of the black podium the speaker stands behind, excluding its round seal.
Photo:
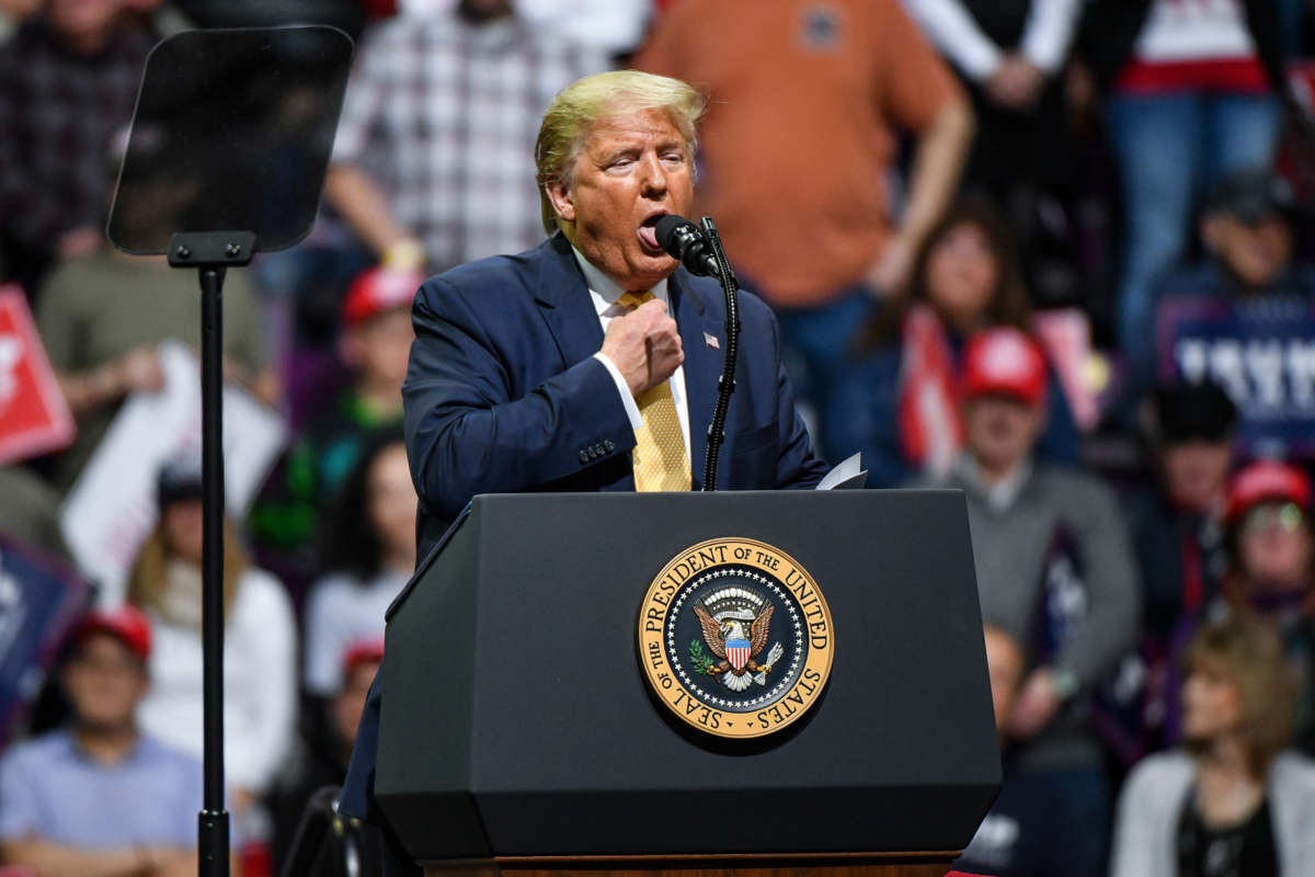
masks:
{"type": "Polygon", "coordinates": [[[381,672],[376,795],[435,873],[939,874],[1001,782],[952,490],[480,496],[381,672]],[[830,607],[830,680],[768,736],[680,721],[636,644],[659,573],[721,538],[788,554],[830,607]]]}

